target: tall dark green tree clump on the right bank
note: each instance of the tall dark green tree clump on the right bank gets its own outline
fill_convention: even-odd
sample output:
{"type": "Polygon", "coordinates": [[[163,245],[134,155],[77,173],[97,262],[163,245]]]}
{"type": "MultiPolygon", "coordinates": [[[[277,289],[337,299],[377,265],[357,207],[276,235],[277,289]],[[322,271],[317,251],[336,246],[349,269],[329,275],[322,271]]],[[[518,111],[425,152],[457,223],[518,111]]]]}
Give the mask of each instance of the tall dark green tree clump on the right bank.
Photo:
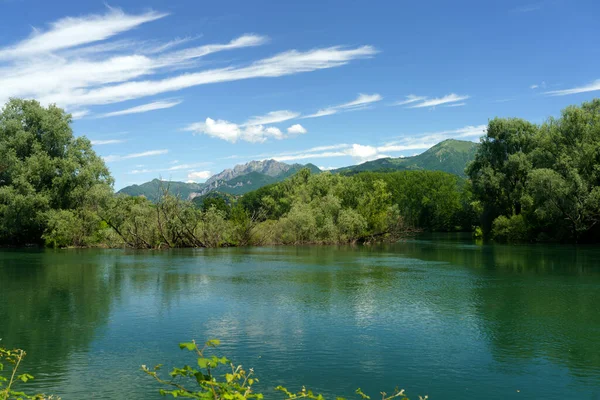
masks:
{"type": "Polygon", "coordinates": [[[600,100],[538,126],[489,123],[467,173],[484,235],[500,241],[600,240],[600,100]]]}

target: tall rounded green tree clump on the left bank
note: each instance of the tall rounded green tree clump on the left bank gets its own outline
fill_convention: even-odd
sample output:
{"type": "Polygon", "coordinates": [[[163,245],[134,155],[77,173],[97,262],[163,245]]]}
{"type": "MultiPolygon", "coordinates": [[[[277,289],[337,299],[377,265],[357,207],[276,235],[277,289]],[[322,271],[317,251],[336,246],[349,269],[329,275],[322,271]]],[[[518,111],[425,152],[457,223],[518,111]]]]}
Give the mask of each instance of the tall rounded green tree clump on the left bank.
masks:
{"type": "Polygon", "coordinates": [[[81,245],[95,235],[95,210],[112,193],[112,178],[70,122],[60,108],[33,100],[13,99],[0,112],[0,244],[68,234],[81,245]],[[64,232],[71,228],[77,232],[64,232]]]}

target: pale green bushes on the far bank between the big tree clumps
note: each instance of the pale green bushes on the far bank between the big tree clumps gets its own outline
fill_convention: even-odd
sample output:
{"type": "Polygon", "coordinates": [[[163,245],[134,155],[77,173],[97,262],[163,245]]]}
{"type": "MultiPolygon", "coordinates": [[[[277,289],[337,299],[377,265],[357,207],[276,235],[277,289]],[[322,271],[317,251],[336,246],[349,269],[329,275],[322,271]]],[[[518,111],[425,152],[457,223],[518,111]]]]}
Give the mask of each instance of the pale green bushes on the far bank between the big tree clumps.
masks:
{"type": "Polygon", "coordinates": [[[165,187],[156,204],[116,196],[99,214],[111,246],[137,248],[351,243],[393,240],[407,229],[384,181],[308,169],[235,203],[208,197],[198,207],[165,187]]]}

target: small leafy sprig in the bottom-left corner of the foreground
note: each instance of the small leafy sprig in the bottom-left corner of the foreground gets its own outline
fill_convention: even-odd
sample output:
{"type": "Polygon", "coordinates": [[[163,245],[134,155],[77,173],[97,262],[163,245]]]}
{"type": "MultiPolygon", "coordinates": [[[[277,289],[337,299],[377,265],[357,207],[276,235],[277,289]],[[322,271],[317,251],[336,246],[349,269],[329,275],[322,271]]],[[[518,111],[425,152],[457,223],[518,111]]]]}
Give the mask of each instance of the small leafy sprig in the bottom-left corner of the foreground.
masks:
{"type": "Polygon", "coordinates": [[[0,372],[5,370],[5,365],[10,367],[7,369],[8,377],[0,375],[0,400],[8,400],[8,399],[33,399],[33,400],[59,400],[57,397],[53,396],[45,396],[43,394],[34,394],[28,395],[24,392],[17,391],[14,389],[15,385],[18,382],[26,383],[33,379],[32,375],[27,373],[18,374],[19,365],[25,358],[24,350],[16,349],[16,350],[7,350],[0,347],[0,372]]]}

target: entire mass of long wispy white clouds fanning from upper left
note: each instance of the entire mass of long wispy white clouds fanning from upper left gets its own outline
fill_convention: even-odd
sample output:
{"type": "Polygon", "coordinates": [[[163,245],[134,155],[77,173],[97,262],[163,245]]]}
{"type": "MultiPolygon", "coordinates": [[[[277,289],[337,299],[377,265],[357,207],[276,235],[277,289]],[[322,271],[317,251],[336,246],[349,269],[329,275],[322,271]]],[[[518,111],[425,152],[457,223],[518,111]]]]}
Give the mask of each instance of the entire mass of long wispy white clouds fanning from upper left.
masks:
{"type": "Polygon", "coordinates": [[[0,103],[25,97],[64,108],[111,104],[209,83],[335,68],[377,53],[371,46],[290,50],[250,63],[175,73],[199,68],[199,57],[258,46],[267,38],[248,34],[228,43],[179,50],[173,49],[185,45],[188,38],[150,46],[151,39],[113,38],[165,16],[154,11],[128,14],[110,9],[105,14],[60,19],[47,30],[0,47],[0,103]],[[165,77],[165,73],[169,75],[165,77]]]}

